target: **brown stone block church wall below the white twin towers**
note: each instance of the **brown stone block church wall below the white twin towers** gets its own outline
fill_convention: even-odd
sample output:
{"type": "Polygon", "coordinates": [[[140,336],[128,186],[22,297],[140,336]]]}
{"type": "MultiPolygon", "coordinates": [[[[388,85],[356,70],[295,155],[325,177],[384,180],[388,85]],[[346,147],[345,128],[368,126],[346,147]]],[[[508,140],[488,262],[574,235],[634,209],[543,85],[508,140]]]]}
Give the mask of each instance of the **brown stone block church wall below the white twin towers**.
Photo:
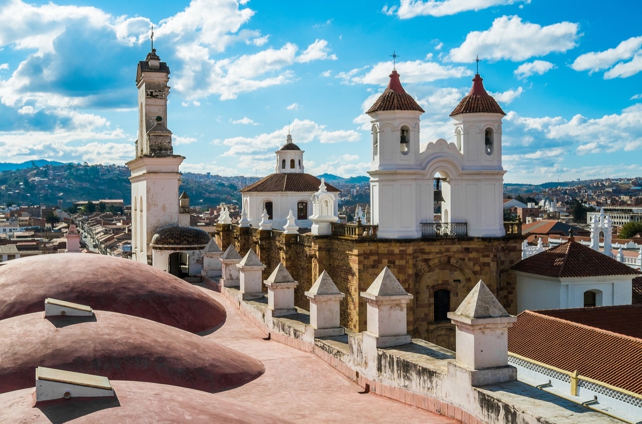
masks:
{"type": "MultiPolygon", "coordinates": [[[[295,305],[308,310],[304,292],[327,271],[345,299],[341,324],[366,329],[366,291],[383,267],[389,267],[414,298],[408,305],[408,333],[413,337],[455,348],[455,327],[435,322],[434,293],[450,291],[454,311],[479,280],[483,280],[510,314],[517,313],[516,276],[510,267],[521,260],[521,236],[455,239],[349,239],[335,236],[284,235],[275,230],[219,228],[217,242],[236,242],[245,255],[253,248],[265,264],[263,278],[281,262],[299,282],[295,305]],[[228,234],[234,232],[234,235],[228,234]]],[[[225,250],[227,246],[221,246],[225,250]]]]}

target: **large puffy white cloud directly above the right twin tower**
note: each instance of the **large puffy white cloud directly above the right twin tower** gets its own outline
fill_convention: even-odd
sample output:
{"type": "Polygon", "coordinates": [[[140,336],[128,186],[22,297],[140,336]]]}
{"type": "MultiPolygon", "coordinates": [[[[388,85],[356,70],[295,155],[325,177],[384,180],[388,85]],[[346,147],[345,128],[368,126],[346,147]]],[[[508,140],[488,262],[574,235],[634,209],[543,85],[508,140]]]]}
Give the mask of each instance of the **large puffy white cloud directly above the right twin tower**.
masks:
{"type": "Polygon", "coordinates": [[[577,45],[578,24],[560,22],[541,26],[522,22],[519,16],[502,16],[487,31],[468,33],[461,46],[448,54],[453,62],[471,62],[482,53],[485,60],[526,60],[553,52],[565,52],[577,45]]]}

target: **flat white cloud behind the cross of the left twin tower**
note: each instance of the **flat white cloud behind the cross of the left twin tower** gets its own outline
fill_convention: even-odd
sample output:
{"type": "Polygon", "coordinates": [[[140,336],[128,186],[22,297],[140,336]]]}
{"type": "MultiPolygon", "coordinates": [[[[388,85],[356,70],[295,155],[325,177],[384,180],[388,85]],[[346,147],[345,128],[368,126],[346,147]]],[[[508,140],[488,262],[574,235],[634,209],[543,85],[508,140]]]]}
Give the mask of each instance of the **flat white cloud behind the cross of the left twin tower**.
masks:
{"type": "MultiPolygon", "coordinates": [[[[465,75],[472,75],[466,67],[440,65],[436,62],[397,62],[397,72],[401,75],[402,83],[420,83],[445,80],[446,78],[460,78],[465,75]]],[[[390,81],[389,75],[392,71],[392,62],[379,62],[372,67],[352,69],[348,72],[340,72],[336,78],[342,79],[347,84],[373,84],[386,85],[390,81]],[[369,69],[363,74],[362,71],[369,69]]]]}

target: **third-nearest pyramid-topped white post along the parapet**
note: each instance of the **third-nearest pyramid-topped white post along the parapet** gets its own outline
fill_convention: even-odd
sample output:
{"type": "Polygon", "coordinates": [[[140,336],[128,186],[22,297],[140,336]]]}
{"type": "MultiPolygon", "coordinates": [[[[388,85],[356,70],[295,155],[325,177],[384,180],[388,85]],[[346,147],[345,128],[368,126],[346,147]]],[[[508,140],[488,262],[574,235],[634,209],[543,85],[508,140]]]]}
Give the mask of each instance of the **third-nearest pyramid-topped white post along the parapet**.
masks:
{"type": "Polygon", "coordinates": [[[310,326],[315,337],[345,334],[340,325],[340,304],[345,294],[325,271],[305,294],[310,300],[310,326]]]}

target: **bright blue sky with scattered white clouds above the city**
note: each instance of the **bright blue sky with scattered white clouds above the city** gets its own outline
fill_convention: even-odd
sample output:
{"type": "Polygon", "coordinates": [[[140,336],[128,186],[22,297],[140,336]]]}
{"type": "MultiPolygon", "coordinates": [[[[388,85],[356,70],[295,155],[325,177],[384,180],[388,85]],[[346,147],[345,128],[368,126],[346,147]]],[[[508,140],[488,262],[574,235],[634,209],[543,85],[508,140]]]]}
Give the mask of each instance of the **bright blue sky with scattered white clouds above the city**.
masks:
{"type": "Polygon", "coordinates": [[[134,158],[153,25],[183,172],[265,176],[289,130],[306,172],[366,175],[365,110],[395,53],[422,144],[454,141],[478,56],[507,113],[505,182],[642,176],[641,16],[624,0],[0,0],[0,160],[134,158]]]}

